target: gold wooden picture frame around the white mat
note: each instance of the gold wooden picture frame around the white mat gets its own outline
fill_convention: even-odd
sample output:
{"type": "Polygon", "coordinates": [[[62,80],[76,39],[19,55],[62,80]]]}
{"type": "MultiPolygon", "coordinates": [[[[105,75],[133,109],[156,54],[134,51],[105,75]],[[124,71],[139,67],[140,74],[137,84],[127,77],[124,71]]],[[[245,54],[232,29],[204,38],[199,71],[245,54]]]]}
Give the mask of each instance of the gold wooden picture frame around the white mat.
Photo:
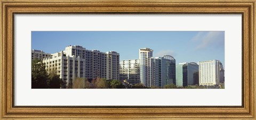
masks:
{"type": "Polygon", "coordinates": [[[256,119],[255,0],[1,0],[0,119],[256,119]],[[14,107],[14,13],[242,13],[243,107],[14,107]]]}

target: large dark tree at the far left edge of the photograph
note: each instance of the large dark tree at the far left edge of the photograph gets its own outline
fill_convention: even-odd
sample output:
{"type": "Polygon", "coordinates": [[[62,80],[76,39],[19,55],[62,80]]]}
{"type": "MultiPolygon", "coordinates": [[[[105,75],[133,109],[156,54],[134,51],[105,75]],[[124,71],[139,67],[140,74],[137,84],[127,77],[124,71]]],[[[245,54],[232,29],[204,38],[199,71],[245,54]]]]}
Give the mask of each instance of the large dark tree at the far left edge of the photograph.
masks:
{"type": "Polygon", "coordinates": [[[45,89],[47,88],[48,75],[45,65],[39,59],[33,59],[31,62],[31,88],[45,89]]]}

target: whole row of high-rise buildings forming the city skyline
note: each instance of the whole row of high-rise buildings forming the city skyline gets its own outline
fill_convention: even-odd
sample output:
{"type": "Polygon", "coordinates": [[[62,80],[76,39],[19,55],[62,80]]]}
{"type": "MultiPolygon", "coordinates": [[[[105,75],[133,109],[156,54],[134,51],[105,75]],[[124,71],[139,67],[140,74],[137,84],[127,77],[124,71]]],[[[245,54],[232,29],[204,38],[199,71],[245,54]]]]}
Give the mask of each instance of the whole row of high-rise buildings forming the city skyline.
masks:
{"type": "Polygon", "coordinates": [[[141,48],[138,61],[134,59],[120,61],[117,52],[104,53],[99,50],[88,50],[82,46],[67,46],[65,50],[54,54],[33,49],[31,50],[32,64],[34,64],[32,65],[33,88],[77,88],[80,78],[86,79],[87,82],[82,83],[78,88],[110,88],[110,86],[111,88],[183,88],[188,85],[195,85],[196,88],[198,85],[207,85],[206,88],[223,88],[225,70],[220,61],[199,62],[199,67],[196,63],[176,65],[173,56],[153,58],[153,51],[150,48],[141,48]],[[42,62],[38,62],[40,60],[42,62]],[[44,75],[40,76],[41,74],[44,75]],[[45,80],[50,74],[59,75],[57,78],[62,82],[57,78],[49,78],[50,81],[55,82],[46,84],[45,80]],[[36,78],[45,78],[43,80],[45,84],[41,83],[42,79],[39,79],[41,81],[39,82],[36,78]]]}

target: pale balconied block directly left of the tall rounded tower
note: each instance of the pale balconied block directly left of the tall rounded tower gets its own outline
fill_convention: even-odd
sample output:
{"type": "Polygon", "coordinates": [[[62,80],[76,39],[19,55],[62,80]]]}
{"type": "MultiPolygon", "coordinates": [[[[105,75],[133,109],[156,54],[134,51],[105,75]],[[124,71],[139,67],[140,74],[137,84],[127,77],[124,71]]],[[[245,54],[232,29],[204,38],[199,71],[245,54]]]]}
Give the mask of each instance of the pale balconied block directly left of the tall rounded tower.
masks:
{"type": "Polygon", "coordinates": [[[140,59],[128,59],[120,61],[120,74],[121,81],[126,81],[129,84],[138,84],[140,82],[140,59]]]}

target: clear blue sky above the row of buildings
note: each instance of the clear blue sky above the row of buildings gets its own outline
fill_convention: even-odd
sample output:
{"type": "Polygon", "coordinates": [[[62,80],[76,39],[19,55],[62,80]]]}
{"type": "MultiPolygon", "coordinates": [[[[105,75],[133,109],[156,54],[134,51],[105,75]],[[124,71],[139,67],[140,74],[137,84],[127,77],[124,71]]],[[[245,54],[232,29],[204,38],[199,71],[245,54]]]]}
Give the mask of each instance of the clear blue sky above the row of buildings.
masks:
{"type": "Polygon", "coordinates": [[[56,53],[68,45],[101,52],[116,51],[120,60],[138,59],[139,49],[153,57],[172,55],[176,64],[218,59],[224,63],[224,31],[32,31],[31,49],[56,53]]]}

